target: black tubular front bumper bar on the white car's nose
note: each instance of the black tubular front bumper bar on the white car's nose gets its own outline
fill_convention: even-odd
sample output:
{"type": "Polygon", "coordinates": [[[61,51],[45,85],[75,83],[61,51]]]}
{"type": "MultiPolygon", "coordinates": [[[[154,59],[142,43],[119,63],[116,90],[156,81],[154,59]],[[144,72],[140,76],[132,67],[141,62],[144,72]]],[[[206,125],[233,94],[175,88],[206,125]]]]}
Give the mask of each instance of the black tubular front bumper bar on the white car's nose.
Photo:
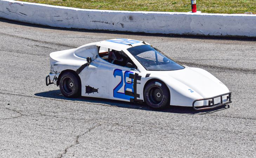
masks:
{"type": "MultiPolygon", "coordinates": [[[[218,95],[218,96],[215,96],[215,97],[203,98],[203,99],[196,99],[196,100],[193,101],[192,106],[193,106],[193,109],[194,109],[194,110],[199,111],[199,110],[208,110],[208,109],[216,108],[216,107],[219,107],[219,106],[222,106],[222,105],[225,105],[225,104],[229,104],[229,103],[232,103],[232,101],[231,101],[231,92],[225,93],[225,94],[221,94],[221,95],[218,95]],[[227,96],[227,101],[223,103],[222,98],[223,98],[223,96],[226,96],[226,95],[229,95],[229,96],[227,96]],[[221,103],[214,104],[214,99],[215,99],[215,98],[218,98],[218,97],[221,97],[221,103]],[[210,100],[210,99],[211,99],[211,100],[210,100]],[[195,107],[195,103],[196,103],[197,101],[201,101],[201,100],[209,100],[208,106],[210,106],[211,103],[212,103],[212,106],[210,106],[210,107],[196,108],[196,107],[195,107]]],[[[203,106],[205,106],[205,105],[203,105],[203,106]]]]}

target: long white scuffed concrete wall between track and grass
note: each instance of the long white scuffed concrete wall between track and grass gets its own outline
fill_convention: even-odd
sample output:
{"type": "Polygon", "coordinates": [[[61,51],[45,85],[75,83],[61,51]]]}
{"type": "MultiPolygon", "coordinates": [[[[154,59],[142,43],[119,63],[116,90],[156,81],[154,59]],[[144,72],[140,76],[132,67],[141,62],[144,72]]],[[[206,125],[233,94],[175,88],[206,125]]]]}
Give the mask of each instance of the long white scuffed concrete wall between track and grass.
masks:
{"type": "Polygon", "coordinates": [[[65,28],[256,37],[256,15],[78,9],[0,0],[0,17],[65,28]]]}

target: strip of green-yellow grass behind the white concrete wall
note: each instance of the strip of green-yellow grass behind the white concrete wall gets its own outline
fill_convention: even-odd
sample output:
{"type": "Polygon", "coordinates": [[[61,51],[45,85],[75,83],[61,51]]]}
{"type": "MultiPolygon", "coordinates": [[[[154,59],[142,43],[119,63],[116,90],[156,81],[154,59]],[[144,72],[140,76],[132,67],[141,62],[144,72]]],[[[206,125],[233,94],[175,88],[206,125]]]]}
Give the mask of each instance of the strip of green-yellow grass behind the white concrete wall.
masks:
{"type": "MultiPolygon", "coordinates": [[[[120,11],[189,12],[190,0],[21,0],[83,9],[120,11]]],[[[256,0],[197,0],[197,10],[203,13],[256,14],[256,0]]]]}

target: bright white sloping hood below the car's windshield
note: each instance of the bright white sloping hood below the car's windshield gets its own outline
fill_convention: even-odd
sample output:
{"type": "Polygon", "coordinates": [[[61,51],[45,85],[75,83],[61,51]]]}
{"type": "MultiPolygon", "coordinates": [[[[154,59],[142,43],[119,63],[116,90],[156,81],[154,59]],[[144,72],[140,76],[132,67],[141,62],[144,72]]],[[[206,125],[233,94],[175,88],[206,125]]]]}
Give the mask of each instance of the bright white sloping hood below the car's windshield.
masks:
{"type": "Polygon", "coordinates": [[[214,97],[229,92],[227,86],[208,71],[201,68],[185,66],[182,70],[161,71],[158,75],[162,76],[162,80],[165,80],[165,83],[168,83],[172,88],[184,88],[184,86],[181,85],[185,85],[187,88],[185,91],[190,91],[191,94],[196,92],[203,98],[214,97]],[[176,80],[176,84],[177,82],[180,83],[180,87],[179,85],[173,86],[171,81],[172,79],[176,80]]]}

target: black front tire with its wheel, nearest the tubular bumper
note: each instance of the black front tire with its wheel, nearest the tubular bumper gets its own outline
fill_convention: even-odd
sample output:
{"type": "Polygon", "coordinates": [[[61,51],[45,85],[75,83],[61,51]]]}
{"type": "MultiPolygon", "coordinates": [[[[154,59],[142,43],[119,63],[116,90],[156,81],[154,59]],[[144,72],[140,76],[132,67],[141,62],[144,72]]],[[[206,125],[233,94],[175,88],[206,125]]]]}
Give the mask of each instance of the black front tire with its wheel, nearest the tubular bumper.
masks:
{"type": "Polygon", "coordinates": [[[153,108],[164,108],[170,105],[168,87],[161,81],[151,81],[144,90],[145,103],[153,108]]]}

